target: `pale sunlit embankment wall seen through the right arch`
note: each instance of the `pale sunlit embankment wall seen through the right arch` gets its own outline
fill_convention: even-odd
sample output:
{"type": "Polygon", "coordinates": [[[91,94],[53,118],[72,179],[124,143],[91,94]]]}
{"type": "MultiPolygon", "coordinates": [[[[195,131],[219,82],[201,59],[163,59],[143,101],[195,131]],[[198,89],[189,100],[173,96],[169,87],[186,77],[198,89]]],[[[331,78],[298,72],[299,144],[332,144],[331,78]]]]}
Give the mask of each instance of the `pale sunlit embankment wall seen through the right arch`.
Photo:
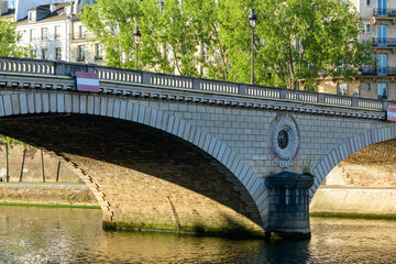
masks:
{"type": "Polygon", "coordinates": [[[396,187],[322,185],[310,202],[314,213],[382,215],[396,217],[396,187]]]}

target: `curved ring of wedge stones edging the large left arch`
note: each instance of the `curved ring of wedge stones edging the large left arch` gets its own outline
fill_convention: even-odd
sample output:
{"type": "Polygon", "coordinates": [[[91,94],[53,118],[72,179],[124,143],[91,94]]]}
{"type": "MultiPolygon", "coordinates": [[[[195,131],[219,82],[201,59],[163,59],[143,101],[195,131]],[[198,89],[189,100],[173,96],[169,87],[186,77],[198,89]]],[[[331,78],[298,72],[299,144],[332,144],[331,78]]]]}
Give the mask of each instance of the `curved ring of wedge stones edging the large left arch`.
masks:
{"type": "MultiPolygon", "coordinates": [[[[267,194],[263,180],[257,178],[253,169],[228,145],[216,139],[200,128],[173,116],[170,112],[161,111],[140,103],[128,97],[102,96],[91,94],[75,94],[65,91],[37,91],[20,90],[12,94],[3,92],[0,98],[0,116],[16,117],[21,114],[42,113],[76,113],[107,117],[118,120],[131,121],[146,125],[174,136],[177,136],[199,150],[204,151],[222,164],[244,187],[255,205],[260,216],[254,219],[256,223],[265,227],[267,194]]],[[[77,164],[75,164],[77,167],[77,164]]],[[[78,170],[78,168],[76,168],[78,170]]],[[[76,172],[77,172],[76,170],[76,172]]],[[[87,177],[84,172],[77,172],[80,177],[87,177]]],[[[84,178],[97,196],[103,196],[89,178],[84,178]]],[[[106,201],[102,208],[108,209],[111,220],[111,207],[106,201]]]]}

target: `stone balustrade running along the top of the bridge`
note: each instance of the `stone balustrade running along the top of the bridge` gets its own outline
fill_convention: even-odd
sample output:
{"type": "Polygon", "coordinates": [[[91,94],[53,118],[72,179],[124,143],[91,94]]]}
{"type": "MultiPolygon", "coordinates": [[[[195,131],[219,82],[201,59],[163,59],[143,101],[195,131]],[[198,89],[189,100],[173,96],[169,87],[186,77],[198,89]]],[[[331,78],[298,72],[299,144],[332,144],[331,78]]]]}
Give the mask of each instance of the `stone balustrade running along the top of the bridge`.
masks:
{"type": "MultiPolygon", "coordinates": [[[[0,74],[19,75],[31,77],[69,78],[74,80],[76,72],[96,73],[101,84],[118,84],[116,88],[103,88],[100,91],[116,95],[134,95],[129,86],[140,86],[147,88],[165,88],[182,91],[199,91],[211,95],[228,95],[240,98],[270,99],[283,102],[308,103],[314,106],[328,106],[346,109],[362,109],[367,111],[386,111],[388,107],[396,107],[395,101],[376,100],[369,98],[338,96],[319,92],[308,92],[300,90],[288,90],[283,88],[253,86],[229,81],[211,79],[191,78],[185,76],[166,75],[142,70],[114,68],[95,64],[78,64],[66,62],[53,62],[29,58],[0,57],[0,74]],[[119,85],[124,85],[123,87],[119,85]]],[[[7,86],[7,81],[0,81],[0,86],[7,86]]],[[[29,88],[29,81],[11,81],[11,86],[29,88]]],[[[40,87],[31,87],[40,88],[40,87]]],[[[53,87],[47,85],[43,88],[70,89],[74,90],[75,84],[58,85],[53,87]]],[[[143,95],[144,96],[144,91],[143,95]]],[[[160,95],[156,95],[157,97],[160,95]]],[[[155,95],[154,95],[155,97],[155,95]]],[[[170,98],[172,99],[172,98],[170,98]]],[[[175,99],[175,98],[173,98],[175,99]]],[[[210,101],[209,101],[210,102],[210,101]]],[[[231,103],[227,100],[217,103],[231,103]]],[[[254,107],[254,106],[251,106],[254,107]]],[[[280,109],[283,110],[283,109],[280,109]]],[[[314,111],[315,112],[315,111],[314,111]]],[[[384,119],[384,114],[380,119],[384,119]]]]}

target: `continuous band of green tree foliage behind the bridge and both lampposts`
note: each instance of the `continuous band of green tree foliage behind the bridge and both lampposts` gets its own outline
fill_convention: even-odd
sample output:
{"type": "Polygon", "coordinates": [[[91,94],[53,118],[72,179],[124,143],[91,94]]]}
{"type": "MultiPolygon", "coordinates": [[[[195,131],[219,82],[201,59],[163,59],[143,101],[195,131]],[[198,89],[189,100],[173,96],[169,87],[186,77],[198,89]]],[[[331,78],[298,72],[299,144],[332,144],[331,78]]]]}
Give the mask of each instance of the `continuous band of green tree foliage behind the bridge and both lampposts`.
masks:
{"type": "Polygon", "coordinates": [[[353,78],[373,64],[371,42],[360,42],[362,20],[344,0],[98,0],[80,19],[106,48],[109,66],[135,67],[133,31],[139,25],[139,68],[249,82],[250,9],[255,84],[316,90],[329,76],[353,78]],[[211,59],[202,57],[205,47],[211,59]]]}

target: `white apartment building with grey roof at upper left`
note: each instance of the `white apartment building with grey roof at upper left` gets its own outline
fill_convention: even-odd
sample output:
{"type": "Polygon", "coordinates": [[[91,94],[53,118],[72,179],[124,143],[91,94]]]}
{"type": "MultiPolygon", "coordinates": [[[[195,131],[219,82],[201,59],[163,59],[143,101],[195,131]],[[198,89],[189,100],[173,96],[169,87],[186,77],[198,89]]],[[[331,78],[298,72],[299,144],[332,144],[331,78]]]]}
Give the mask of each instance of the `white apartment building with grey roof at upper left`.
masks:
{"type": "MultiPolygon", "coordinates": [[[[22,36],[20,45],[30,46],[32,57],[102,64],[101,46],[92,41],[94,35],[77,18],[84,4],[94,1],[45,3],[50,0],[36,0],[38,6],[34,7],[23,6],[22,2],[18,0],[15,10],[8,10],[7,13],[14,13],[16,31],[22,36]]],[[[7,0],[1,0],[1,4],[6,6],[7,0]]]]}

